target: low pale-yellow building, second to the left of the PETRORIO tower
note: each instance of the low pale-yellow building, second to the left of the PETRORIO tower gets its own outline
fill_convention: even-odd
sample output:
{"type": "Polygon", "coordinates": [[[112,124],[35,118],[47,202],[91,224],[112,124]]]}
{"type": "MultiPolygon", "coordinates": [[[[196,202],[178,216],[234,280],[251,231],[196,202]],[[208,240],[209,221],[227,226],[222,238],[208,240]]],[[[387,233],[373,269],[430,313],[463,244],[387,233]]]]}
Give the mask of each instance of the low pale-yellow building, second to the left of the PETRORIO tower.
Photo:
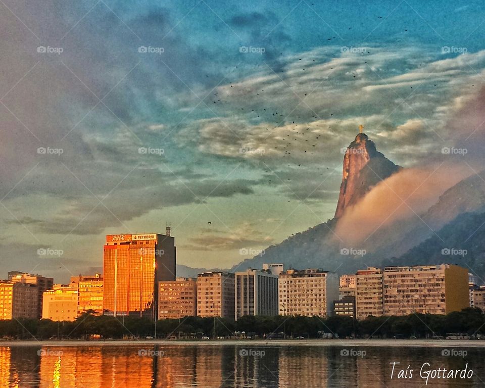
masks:
{"type": "Polygon", "coordinates": [[[74,321],[77,318],[77,284],[54,284],[43,294],[42,319],[74,321]]]}

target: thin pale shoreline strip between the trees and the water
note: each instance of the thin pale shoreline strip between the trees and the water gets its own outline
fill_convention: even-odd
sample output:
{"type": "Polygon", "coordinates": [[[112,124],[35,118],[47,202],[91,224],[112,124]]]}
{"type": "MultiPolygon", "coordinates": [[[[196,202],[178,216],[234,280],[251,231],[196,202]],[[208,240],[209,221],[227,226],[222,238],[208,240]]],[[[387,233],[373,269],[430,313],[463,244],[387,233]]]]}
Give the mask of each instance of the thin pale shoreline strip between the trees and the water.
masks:
{"type": "Polygon", "coordinates": [[[253,346],[253,347],[281,347],[281,346],[317,346],[317,347],[433,347],[433,348],[485,348],[485,342],[480,340],[207,340],[207,341],[183,341],[183,340],[110,340],[110,341],[85,341],[85,340],[16,340],[0,341],[1,347],[33,347],[33,346],[56,346],[56,347],[98,347],[98,346],[253,346]]]}

